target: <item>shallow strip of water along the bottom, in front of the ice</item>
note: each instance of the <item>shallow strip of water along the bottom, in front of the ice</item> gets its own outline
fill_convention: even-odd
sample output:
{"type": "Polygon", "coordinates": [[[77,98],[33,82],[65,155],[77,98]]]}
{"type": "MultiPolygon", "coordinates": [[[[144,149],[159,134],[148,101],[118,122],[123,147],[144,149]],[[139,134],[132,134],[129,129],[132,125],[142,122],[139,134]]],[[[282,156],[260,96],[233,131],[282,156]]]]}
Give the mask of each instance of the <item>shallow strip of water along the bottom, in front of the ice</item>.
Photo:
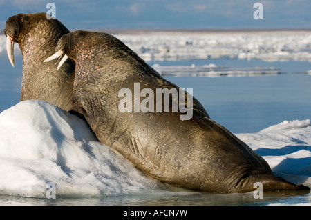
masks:
{"type": "MultiPolygon", "coordinates": [[[[36,199],[0,196],[1,206],[267,206],[310,205],[306,192],[263,192],[263,199],[255,199],[253,192],[212,194],[201,192],[174,192],[169,195],[132,194],[114,197],[75,197],[36,199]]],[[[161,193],[160,193],[161,194],[161,193]]]]}

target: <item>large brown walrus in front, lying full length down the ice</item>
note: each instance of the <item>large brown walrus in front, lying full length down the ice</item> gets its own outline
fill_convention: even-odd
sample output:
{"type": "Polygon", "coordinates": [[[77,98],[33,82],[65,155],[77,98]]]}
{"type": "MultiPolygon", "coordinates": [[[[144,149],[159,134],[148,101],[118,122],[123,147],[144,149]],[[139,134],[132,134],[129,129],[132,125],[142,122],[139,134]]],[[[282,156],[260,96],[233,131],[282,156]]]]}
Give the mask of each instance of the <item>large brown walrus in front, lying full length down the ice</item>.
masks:
{"type": "Polygon", "coordinates": [[[160,99],[146,101],[147,93],[180,88],[111,34],[77,30],[62,36],[56,49],[52,59],[66,54],[61,63],[68,57],[75,61],[72,112],[85,117],[100,142],[151,177],[172,186],[216,193],[254,191],[256,182],[263,184],[264,191],[310,190],[274,176],[267,162],[210,119],[198,100],[189,103],[191,94],[185,90],[178,97],[169,94],[169,112],[164,111],[163,101],[163,112],[149,108],[156,108],[160,99]],[[138,93],[131,97],[129,90],[138,93]],[[176,100],[178,105],[191,107],[190,119],[181,119],[185,111],[173,111],[176,100]],[[149,111],[135,111],[137,101],[149,111]]]}

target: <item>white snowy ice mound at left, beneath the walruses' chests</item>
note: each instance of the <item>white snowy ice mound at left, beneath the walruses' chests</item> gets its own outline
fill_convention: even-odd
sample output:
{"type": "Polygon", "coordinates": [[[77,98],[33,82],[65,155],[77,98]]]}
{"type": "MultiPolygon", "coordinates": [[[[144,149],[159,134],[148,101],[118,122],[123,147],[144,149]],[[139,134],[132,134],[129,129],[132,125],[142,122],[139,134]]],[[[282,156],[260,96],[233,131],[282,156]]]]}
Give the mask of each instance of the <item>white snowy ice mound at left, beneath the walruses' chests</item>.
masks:
{"type": "Polygon", "coordinates": [[[44,101],[22,101],[0,114],[0,194],[46,197],[115,195],[157,181],[99,143],[78,117],[44,101]]]}

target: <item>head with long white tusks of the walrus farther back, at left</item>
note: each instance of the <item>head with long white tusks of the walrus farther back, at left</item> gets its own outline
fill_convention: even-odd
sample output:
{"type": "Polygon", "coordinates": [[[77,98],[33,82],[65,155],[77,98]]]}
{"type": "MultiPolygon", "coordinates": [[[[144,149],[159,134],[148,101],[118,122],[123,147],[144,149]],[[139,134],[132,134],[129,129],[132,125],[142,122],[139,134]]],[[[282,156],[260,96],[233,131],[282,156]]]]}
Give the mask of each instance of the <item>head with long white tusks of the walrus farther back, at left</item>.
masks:
{"type": "MultiPolygon", "coordinates": [[[[28,43],[46,43],[50,42],[53,39],[58,39],[57,34],[59,32],[53,32],[53,27],[57,27],[62,24],[57,19],[47,19],[46,13],[37,13],[37,14],[16,14],[15,16],[10,17],[6,21],[6,26],[3,30],[6,35],[6,50],[8,53],[8,58],[12,66],[15,66],[14,59],[14,43],[19,43],[19,48],[23,52],[24,43],[28,41],[28,43]],[[45,34],[44,39],[35,39],[32,36],[32,32],[37,32],[40,35],[43,35],[44,29],[49,27],[50,32],[45,34]],[[41,41],[41,42],[38,42],[41,41]]],[[[56,28],[55,28],[56,29],[56,28]]],[[[64,28],[64,33],[66,34],[69,31],[64,28]]]]}

